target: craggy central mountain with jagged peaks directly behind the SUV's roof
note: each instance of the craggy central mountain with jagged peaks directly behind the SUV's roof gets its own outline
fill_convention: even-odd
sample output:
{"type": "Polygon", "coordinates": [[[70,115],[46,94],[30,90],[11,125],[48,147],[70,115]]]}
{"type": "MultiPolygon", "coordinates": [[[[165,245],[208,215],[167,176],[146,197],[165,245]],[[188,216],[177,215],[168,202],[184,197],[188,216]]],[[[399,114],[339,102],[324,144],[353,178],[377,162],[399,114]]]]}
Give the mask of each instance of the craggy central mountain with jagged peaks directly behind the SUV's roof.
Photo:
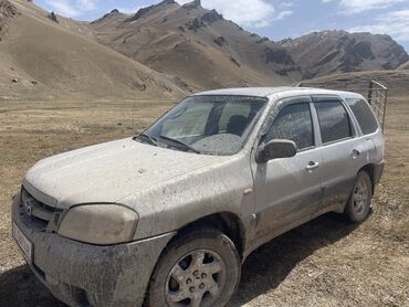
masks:
{"type": "Polygon", "coordinates": [[[285,49],[249,33],[200,1],[172,0],[91,23],[98,42],[192,89],[289,84],[300,66],[285,49]]]}

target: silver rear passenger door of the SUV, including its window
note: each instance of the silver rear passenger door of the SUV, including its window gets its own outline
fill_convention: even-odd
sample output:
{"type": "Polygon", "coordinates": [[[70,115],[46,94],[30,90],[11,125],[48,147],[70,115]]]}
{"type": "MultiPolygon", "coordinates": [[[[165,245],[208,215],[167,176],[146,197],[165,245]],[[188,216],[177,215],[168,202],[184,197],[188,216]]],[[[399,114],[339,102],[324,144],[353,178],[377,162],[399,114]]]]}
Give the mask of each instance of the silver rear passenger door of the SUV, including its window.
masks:
{"type": "Polygon", "coordinates": [[[356,130],[344,102],[337,96],[313,96],[322,142],[321,210],[342,208],[353,190],[356,170],[356,130]]]}

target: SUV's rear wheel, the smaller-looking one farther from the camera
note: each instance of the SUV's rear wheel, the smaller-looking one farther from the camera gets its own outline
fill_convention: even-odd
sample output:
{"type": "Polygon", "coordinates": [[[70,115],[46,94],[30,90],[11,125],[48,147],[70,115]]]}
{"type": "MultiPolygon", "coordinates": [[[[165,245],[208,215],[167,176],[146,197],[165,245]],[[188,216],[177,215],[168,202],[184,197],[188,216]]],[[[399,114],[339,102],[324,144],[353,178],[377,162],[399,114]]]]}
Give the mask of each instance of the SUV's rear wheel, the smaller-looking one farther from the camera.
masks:
{"type": "Polygon", "coordinates": [[[354,190],[345,208],[345,215],[353,223],[364,222],[370,212],[373,183],[366,171],[359,171],[354,190]]]}

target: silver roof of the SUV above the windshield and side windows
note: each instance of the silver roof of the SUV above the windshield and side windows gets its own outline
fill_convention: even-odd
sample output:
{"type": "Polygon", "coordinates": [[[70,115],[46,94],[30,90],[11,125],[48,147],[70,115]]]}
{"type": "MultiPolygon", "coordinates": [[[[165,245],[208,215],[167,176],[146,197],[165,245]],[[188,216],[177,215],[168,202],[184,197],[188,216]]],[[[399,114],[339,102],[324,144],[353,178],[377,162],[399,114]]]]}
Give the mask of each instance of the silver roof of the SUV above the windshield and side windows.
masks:
{"type": "Polygon", "coordinates": [[[240,88],[221,88],[212,89],[207,92],[197,93],[193,96],[211,96],[211,95],[229,95],[229,96],[254,96],[254,97],[271,97],[276,95],[281,97],[290,97],[297,95],[338,95],[342,97],[363,97],[359,94],[344,91],[334,91],[334,89],[323,89],[323,88],[313,88],[313,87],[291,87],[291,86],[281,86],[281,87],[240,87],[240,88]]]}

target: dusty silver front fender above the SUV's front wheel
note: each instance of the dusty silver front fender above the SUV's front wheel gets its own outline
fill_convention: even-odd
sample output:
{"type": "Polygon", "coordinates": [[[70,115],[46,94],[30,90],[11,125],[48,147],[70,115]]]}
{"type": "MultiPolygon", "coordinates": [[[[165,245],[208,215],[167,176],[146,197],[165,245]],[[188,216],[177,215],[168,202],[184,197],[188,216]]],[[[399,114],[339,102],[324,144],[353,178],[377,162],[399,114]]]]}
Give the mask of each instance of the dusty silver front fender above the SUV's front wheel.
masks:
{"type": "MultiPolygon", "coordinates": [[[[177,231],[203,216],[231,212],[249,230],[254,210],[249,155],[196,170],[118,202],[139,214],[135,240],[177,231]]],[[[245,237],[248,234],[245,233],[245,237]]]]}

